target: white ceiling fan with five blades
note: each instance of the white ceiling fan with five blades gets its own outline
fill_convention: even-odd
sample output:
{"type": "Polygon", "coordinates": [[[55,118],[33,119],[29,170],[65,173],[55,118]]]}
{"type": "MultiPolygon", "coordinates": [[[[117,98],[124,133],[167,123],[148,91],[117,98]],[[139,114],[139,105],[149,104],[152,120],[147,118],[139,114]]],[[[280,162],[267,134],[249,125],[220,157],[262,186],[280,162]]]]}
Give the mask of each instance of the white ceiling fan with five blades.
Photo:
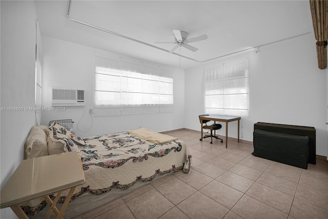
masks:
{"type": "Polygon", "coordinates": [[[155,44],[176,44],[170,51],[169,53],[174,52],[178,47],[185,47],[186,49],[189,49],[193,52],[196,52],[198,48],[190,46],[189,43],[194,43],[197,41],[203,41],[204,39],[207,39],[207,35],[201,35],[201,36],[196,36],[194,38],[188,39],[188,33],[185,31],[180,31],[180,30],[173,30],[174,34],[174,39],[175,42],[155,42],[155,44]]]}

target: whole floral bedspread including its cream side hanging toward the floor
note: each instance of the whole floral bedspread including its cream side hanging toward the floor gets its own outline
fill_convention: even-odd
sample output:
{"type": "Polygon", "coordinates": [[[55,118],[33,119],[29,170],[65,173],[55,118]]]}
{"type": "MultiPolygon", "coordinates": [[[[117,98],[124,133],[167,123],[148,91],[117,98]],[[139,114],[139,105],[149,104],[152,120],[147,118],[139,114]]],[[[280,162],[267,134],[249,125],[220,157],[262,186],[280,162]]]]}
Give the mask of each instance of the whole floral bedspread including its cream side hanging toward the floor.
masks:
{"type": "MultiPolygon", "coordinates": [[[[156,175],[182,170],[189,173],[191,154],[183,141],[153,144],[128,132],[83,138],[74,141],[80,150],[85,184],[76,187],[71,201],[84,193],[104,194],[112,188],[128,189],[136,182],[148,182],[156,175]]],[[[64,203],[65,192],[58,203],[64,203]]],[[[22,206],[28,215],[42,210],[47,203],[22,206]]]]}

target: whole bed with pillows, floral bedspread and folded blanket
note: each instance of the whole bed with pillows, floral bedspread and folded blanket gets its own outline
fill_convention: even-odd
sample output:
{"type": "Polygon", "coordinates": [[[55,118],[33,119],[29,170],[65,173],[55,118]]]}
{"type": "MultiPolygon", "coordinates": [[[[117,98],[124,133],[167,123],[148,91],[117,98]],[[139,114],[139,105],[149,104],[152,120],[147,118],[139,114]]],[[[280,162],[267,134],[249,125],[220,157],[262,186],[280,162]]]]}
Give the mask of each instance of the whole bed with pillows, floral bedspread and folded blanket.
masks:
{"type": "MultiPolygon", "coordinates": [[[[113,189],[126,190],[167,173],[188,174],[191,166],[191,154],[183,141],[145,128],[81,138],[54,122],[49,127],[33,126],[25,143],[25,158],[68,151],[80,155],[86,178],[71,198],[73,204],[88,197],[85,203],[78,201],[79,208],[99,200],[99,196],[111,196],[113,189]]],[[[58,203],[64,201],[65,193],[58,203]]],[[[38,199],[24,203],[22,208],[32,217],[46,206],[38,199]]]]}

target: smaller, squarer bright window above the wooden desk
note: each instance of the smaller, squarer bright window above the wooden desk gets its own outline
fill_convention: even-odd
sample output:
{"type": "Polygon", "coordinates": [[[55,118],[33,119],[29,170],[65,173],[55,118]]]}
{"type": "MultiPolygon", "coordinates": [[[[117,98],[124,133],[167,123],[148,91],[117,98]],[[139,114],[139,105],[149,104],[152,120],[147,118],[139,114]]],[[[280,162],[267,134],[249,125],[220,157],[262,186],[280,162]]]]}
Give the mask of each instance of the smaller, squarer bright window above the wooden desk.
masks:
{"type": "Polygon", "coordinates": [[[204,70],[204,106],[208,114],[248,116],[248,60],[204,70]]]}

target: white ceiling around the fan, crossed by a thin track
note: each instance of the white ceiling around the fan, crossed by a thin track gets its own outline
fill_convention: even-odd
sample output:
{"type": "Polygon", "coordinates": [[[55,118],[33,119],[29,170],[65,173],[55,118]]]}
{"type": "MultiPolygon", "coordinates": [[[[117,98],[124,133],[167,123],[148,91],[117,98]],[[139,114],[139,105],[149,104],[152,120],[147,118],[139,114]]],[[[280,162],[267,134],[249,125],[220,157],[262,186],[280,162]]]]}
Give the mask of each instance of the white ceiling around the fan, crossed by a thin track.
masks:
{"type": "Polygon", "coordinates": [[[35,1],[43,35],[125,54],[184,69],[208,59],[313,32],[309,1],[72,1],[69,16],[80,22],[118,33],[123,38],[66,17],[68,1],[35,1]],[[173,29],[189,38],[207,34],[191,43],[199,50],[171,50],[173,29]]]}

